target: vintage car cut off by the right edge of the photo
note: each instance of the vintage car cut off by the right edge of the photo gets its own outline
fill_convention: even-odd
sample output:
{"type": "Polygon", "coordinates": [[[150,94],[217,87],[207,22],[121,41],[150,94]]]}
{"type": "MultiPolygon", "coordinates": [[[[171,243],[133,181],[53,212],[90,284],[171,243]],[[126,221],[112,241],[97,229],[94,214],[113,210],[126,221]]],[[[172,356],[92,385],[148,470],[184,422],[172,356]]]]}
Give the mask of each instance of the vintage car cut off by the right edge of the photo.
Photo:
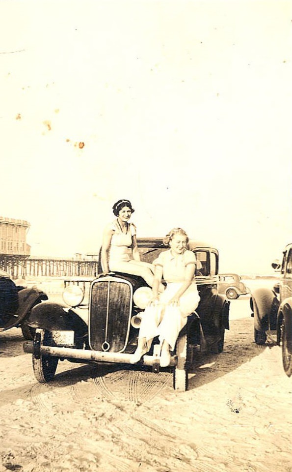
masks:
{"type": "Polygon", "coordinates": [[[292,244],[283,251],[282,263],[276,260],[272,267],[280,272],[279,281],[270,290],[260,288],[250,297],[251,316],[254,318],[254,340],[265,344],[270,338],[282,345],[285,373],[292,374],[292,244]]]}

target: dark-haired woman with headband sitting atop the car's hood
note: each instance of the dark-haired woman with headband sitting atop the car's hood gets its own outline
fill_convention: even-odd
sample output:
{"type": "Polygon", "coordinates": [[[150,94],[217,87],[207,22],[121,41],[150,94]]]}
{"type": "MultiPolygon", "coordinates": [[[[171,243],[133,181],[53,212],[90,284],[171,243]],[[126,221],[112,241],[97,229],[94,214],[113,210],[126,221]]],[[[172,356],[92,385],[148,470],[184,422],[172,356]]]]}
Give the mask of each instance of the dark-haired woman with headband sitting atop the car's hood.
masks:
{"type": "MultiPolygon", "coordinates": [[[[135,211],[130,200],[118,200],[112,209],[117,218],[104,231],[101,253],[103,272],[139,275],[152,287],[154,266],[140,260],[136,227],[129,222],[135,211]]],[[[163,290],[163,285],[159,284],[159,292],[163,290]]]]}

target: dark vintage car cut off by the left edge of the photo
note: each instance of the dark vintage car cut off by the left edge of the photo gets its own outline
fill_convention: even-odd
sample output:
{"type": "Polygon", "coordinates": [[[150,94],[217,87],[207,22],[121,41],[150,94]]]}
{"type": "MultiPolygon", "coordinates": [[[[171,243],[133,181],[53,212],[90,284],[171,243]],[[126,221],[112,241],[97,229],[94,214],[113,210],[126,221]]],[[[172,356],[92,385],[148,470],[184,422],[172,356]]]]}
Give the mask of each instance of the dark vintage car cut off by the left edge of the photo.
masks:
{"type": "Polygon", "coordinates": [[[33,306],[47,299],[44,292],[16,285],[7,272],[0,270],[0,331],[16,326],[25,339],[33,339],[35,329],[27,325],[27,317],[33,306]]]}

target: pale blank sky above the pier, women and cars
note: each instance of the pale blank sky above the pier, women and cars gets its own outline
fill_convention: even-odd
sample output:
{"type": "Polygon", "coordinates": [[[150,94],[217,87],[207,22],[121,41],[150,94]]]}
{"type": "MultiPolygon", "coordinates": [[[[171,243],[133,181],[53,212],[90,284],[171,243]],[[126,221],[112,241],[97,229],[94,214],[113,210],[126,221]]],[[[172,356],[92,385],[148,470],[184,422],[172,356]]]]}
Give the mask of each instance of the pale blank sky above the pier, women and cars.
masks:
{"type": "Polygon", "coordinates": [[[181,226],[221,272],[271,272],[291,53],[291,1],[2,0],[0,215],[29,221],[32,256],[72,257],[127,198],[138,236],[181,226]]]}

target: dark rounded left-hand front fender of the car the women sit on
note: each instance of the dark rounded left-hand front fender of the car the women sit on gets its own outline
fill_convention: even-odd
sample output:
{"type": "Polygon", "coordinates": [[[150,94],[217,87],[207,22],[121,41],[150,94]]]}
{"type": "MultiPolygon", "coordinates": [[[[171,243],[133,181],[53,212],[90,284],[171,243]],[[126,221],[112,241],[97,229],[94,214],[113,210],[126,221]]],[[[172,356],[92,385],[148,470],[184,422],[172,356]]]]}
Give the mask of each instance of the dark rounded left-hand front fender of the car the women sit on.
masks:
{"type": "Polygon", "coordinates": [[[45,301],[35,305],[29,313],[27,324],[33,328],[53,330],[74,330],[78,335],[87,334],[87,324],[71,308],[59,303],[45,301]]]}

